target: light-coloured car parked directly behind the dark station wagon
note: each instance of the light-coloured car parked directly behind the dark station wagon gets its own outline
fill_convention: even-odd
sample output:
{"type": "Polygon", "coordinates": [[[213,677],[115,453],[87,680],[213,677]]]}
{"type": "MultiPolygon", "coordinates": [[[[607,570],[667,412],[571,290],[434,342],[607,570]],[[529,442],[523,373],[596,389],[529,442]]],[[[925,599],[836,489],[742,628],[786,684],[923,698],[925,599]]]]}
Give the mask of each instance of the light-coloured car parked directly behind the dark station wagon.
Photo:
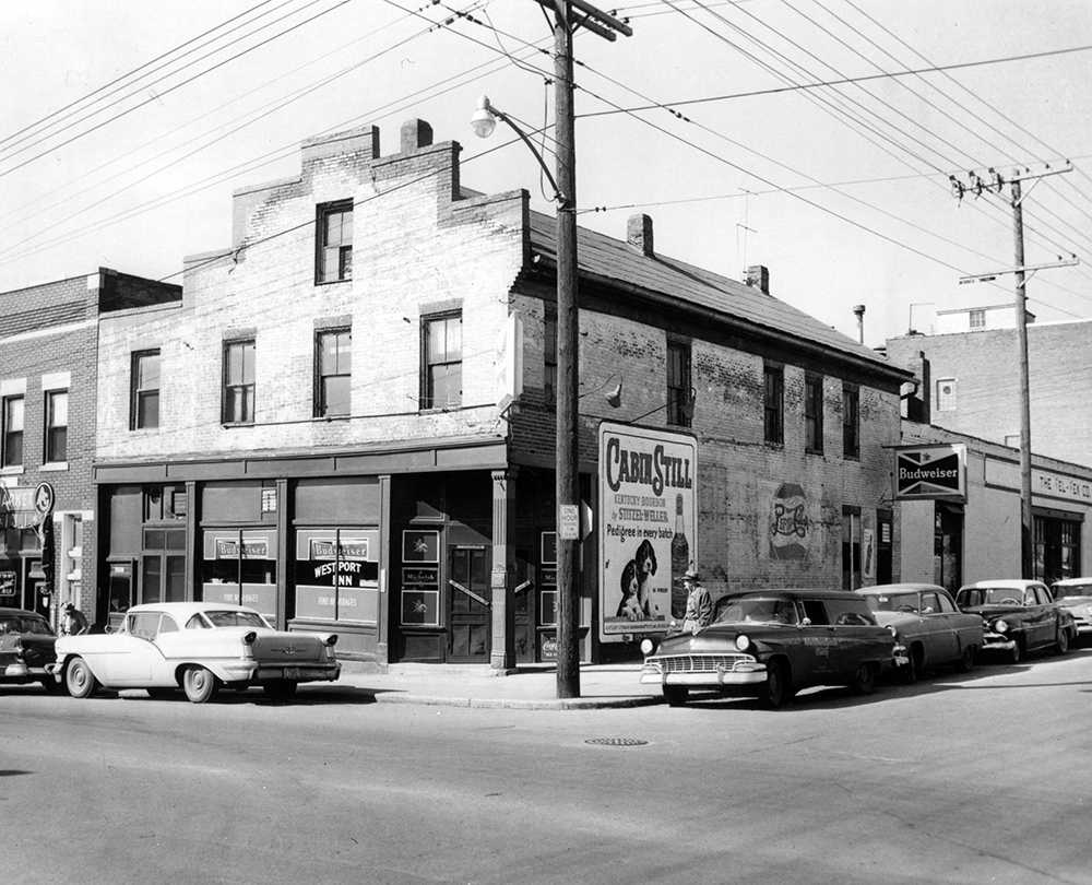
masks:
{"type": "Polygon", "coordinates": [[[961,612],[942,587],[933,583],[886,583],[857,591],[880,626],[895,628],[895,641],[910,662],[899,668],[905,682],[925,670],[956,664],[964,673],[974,666],[983,644],[982,617],[961,612]]]}

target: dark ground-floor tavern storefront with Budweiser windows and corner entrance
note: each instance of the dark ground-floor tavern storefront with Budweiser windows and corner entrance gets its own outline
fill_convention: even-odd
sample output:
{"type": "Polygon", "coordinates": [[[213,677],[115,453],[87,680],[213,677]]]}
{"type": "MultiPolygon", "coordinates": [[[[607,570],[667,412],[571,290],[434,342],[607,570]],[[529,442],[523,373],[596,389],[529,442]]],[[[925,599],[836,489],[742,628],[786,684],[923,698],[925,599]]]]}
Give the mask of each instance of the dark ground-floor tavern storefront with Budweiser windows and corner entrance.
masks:
{"type": "MultiPolygon", "coordinates": [[[[553,660],[554,474],[506,468],[503,453],[375,456],[389,472],[352,474],[346,461],[367,456],[99,465],[97,620],[138,603],[229,602],[280,628],[335,630],[349,660],[553,660]]],[[[590,641],[582,630],[584,660],[590,641]]]]}

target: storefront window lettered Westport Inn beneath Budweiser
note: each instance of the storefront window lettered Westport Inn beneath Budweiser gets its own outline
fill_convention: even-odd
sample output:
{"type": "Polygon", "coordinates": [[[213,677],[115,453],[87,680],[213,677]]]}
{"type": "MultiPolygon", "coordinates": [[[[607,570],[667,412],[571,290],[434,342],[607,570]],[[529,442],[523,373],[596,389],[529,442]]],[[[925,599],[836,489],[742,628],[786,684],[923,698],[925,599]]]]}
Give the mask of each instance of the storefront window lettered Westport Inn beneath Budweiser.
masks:
{"type": "Polygon", "coordinates": [[[379,623],[378,529],[296,532],[296,617],[379,623]]]}

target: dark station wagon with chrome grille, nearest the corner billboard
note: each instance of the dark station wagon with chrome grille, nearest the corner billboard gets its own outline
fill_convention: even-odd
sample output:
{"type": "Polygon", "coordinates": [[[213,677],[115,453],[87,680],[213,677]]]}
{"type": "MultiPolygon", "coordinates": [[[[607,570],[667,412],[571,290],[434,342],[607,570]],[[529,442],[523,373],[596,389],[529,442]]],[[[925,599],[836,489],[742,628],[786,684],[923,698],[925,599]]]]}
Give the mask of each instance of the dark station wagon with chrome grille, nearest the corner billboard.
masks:
{"type": "Polygon", "coordinates": [[[858,593],[755,590],[722,597],[712,623],[695,633],[646,640],[641,682],[662,685],[675,707],[695,689],[788,704],[812,685],[868,694],[885,668],[904,665],[894,629],[876,623],[858,593]]]}

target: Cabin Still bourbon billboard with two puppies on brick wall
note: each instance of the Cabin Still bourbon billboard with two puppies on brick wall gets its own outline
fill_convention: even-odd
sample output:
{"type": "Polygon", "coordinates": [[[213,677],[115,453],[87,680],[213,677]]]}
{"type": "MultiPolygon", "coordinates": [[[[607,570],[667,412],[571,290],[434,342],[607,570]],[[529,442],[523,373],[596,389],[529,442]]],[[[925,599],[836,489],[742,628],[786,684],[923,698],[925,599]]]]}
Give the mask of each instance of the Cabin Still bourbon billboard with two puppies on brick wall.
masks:
{"type": "Polygon", "coordinates": [[[686,610],[698,562],[698,440],[600,425],[600,637],[662,633],[686,610]]]}

